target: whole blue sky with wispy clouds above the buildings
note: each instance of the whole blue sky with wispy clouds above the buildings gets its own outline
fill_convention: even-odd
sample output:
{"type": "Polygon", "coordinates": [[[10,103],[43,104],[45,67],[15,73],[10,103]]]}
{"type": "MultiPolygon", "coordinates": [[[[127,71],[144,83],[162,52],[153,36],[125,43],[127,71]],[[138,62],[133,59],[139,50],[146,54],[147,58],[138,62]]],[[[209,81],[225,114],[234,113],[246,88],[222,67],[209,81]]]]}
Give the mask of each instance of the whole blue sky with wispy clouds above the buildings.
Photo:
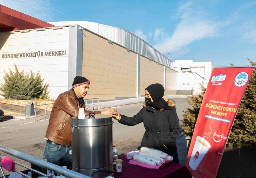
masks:
{"type": "Polygon", "coordinates": [[[0,0],[44,21],[92,21],[128,30],[172,61],[256,61],[256,1],[0,0]],[[169,53],[169,54],[168,54],[169,53]]]}

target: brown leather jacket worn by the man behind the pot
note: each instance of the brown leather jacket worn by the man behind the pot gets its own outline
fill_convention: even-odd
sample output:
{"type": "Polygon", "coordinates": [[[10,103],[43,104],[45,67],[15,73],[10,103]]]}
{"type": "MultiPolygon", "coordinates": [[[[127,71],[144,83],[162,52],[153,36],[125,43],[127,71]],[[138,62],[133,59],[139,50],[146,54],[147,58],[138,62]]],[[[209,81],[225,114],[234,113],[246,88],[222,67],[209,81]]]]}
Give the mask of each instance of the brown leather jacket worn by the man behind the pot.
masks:
{"type": "MultiPolygon", "coordinates": [[[[78,99],[72,89],[61,93],[52,107],[48,128],[45,138],[61,145],[71,145],[71,117],[78,117],[78,108],[85,108],[84,104],[79,104],[78,99]]],[[[91,113],[85,110],[85,115],[91,113]]],[[[101,114],[95,111],[95,114],[101,114]]]]}

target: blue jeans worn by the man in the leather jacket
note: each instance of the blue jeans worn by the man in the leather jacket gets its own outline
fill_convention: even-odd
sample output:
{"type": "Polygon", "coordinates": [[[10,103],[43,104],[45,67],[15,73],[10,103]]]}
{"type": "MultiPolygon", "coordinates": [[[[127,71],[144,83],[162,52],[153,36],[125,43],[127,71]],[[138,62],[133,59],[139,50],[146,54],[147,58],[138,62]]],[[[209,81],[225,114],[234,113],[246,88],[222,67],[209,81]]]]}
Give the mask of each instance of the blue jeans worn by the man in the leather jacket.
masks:
{"type": "Polygon", "coordinates": [[[47,162],[58,166],[67,166],[67,168],[71,170],[72,154],[69,154],[70,150],[72,150],[71,146],[46,143],[43,158],[47,159],[47,162]]]}

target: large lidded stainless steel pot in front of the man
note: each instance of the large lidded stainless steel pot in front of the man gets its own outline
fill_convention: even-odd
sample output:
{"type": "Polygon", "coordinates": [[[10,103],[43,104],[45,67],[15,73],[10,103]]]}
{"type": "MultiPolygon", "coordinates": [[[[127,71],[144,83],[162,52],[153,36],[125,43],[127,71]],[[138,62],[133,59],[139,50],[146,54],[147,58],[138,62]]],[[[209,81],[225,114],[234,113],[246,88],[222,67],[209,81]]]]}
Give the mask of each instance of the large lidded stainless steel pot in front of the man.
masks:
{"type": "Polygon", "coordinates": [[[85,119],[71,118],[72,167],[74,171],[92,176],[107,177],[112,171],[112,117],[94,113],[85,119]]]}

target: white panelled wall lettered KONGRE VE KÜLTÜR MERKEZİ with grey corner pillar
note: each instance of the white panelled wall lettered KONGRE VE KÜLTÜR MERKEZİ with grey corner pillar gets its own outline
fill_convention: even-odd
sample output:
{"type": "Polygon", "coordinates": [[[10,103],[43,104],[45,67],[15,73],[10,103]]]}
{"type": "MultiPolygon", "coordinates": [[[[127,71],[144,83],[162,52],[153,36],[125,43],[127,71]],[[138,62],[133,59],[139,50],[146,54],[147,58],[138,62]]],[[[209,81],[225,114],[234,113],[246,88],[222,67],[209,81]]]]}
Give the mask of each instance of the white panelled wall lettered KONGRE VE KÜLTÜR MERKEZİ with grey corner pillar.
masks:
{"type": "Polygon", "coordinates": [[[82,75],[82,53],[77,50],[80,31],[70,26],[0,33],[0,83],[4,71],[13,71],[16,64],[25,74],[39,71],[49,83],[50,98],[67,91],[74,77],[82,75]]]}

